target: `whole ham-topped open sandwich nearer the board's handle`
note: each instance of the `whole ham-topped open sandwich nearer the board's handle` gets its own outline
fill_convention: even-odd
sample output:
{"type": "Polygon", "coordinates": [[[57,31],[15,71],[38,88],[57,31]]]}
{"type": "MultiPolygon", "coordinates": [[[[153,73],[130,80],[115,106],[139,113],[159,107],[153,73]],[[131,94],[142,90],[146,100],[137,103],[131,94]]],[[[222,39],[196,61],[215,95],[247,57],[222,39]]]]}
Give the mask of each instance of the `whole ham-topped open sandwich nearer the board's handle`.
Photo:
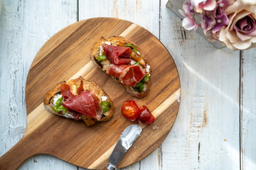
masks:
{"type": "Polygon", "coordinates": [[[87,127],[112,118],[112,101],[94,82],[79,77],[55,85],[44,97],[46,109],[55,115],[83,120],[87,127]]]}

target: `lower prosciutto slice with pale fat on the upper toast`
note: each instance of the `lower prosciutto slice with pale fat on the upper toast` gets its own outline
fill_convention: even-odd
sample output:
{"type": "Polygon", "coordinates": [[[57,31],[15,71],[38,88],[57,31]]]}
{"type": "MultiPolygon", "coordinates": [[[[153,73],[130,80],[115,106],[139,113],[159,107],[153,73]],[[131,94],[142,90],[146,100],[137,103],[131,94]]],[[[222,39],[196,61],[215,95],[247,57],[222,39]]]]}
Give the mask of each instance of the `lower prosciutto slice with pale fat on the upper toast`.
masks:
{"type": "Polygon", "coordinates": [[[125,86],[136,86],[147,74],[146,70],[142,69],[139,64],[108,64],[105,69],[107,69],[107,74],[117,77],[125,86]]]}

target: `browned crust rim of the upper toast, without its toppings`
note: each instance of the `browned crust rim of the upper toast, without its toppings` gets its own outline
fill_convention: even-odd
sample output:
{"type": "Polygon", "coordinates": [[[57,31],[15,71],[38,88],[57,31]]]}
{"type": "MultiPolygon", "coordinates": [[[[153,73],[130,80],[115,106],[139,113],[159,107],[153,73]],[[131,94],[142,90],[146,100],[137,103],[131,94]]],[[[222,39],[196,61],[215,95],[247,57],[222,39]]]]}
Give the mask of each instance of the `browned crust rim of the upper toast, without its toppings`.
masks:
{"type": "MultiPolygon", "coordinates": [[[[100,38],[100,40],[95,42],[95,44],[92,46],[92,52],[91,52],[90,58],[98,67],[100,67],[100,69],[102,69],[102,65],[100,64],[100,62],[97,61],[97,57],[100,55],[100,46],[102,45],[102,42],[110,42],[111,45],[117,45],[117,46],[123,46],[124,44],[126,45],[126,44],[130,43],[130,44],[134,45],[134,47],[136,47],[137,51],[140,53],[142,58],[145,60],[146,64],[149,65],[149,62],[148,62],[146,56],[144,55],[144,52],[142,52],[142,50],[140,50],[140,48],[134,42],[127,40],[122,36],[111,36],[110,38],[107,38],[107,39],[103,38],[103,37],[100,38]]],[[[105,70],[103,70],[103,69],[102,69],[102,71],[105,72],[105,70]]],[[[151,74],[151,68],[149,69],[149,74],[151,74]]],[[[110,77],[112,77],[112,76],[110,75],[110,77]]],[[[134,97],[144,98],[146,96],[146,94],[149,93],[150,81],[151,81],[150,77],[149,77],[149,81],[146,83],[145,91],[142,91],[141,93],[134,91],[134,89],[132,89],[132,87],[125,86],[116,77],[112,77],[112,79],[114,79],[114,81],[117,81],[121,86],[124,87],[124,89],[127,90],[127,92],[129,94],[131,94],[134,97]]]]}

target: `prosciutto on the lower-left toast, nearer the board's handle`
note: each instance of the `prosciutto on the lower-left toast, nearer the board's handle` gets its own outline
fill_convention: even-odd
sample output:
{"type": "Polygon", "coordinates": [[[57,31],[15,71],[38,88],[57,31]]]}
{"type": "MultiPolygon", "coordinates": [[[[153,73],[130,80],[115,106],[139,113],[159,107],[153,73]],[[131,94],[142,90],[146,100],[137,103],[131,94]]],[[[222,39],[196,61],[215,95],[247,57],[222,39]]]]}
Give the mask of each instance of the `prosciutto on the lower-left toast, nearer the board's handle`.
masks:
{"type": "Polygon", "coordinates": [[[78,113],[88,115],[97,120],[100,120],[102,117],[102,107],[100,106],[94,91],[85,91],[82,87],[82,82],[78,88],[78,96],[71,93],[68,84],[61,84],[60,92],[64,98],[62,105],[65,108],[68,108],[71,115],[73,115],[73,113],[78,113]]]}

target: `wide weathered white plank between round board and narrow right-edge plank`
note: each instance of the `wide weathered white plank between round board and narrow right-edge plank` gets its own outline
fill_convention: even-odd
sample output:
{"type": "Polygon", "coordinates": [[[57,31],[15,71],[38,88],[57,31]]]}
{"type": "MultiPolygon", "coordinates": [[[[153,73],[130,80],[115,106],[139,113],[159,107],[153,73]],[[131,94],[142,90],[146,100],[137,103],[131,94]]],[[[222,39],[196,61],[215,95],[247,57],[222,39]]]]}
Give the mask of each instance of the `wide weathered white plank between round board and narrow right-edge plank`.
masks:
{"type": "Polygon", "coordinates": [[[240,169],[239,52],[218,50],[161,0],[160,40],[181,79],[181,106],[162,144],[167,169],[240,169]]]}

